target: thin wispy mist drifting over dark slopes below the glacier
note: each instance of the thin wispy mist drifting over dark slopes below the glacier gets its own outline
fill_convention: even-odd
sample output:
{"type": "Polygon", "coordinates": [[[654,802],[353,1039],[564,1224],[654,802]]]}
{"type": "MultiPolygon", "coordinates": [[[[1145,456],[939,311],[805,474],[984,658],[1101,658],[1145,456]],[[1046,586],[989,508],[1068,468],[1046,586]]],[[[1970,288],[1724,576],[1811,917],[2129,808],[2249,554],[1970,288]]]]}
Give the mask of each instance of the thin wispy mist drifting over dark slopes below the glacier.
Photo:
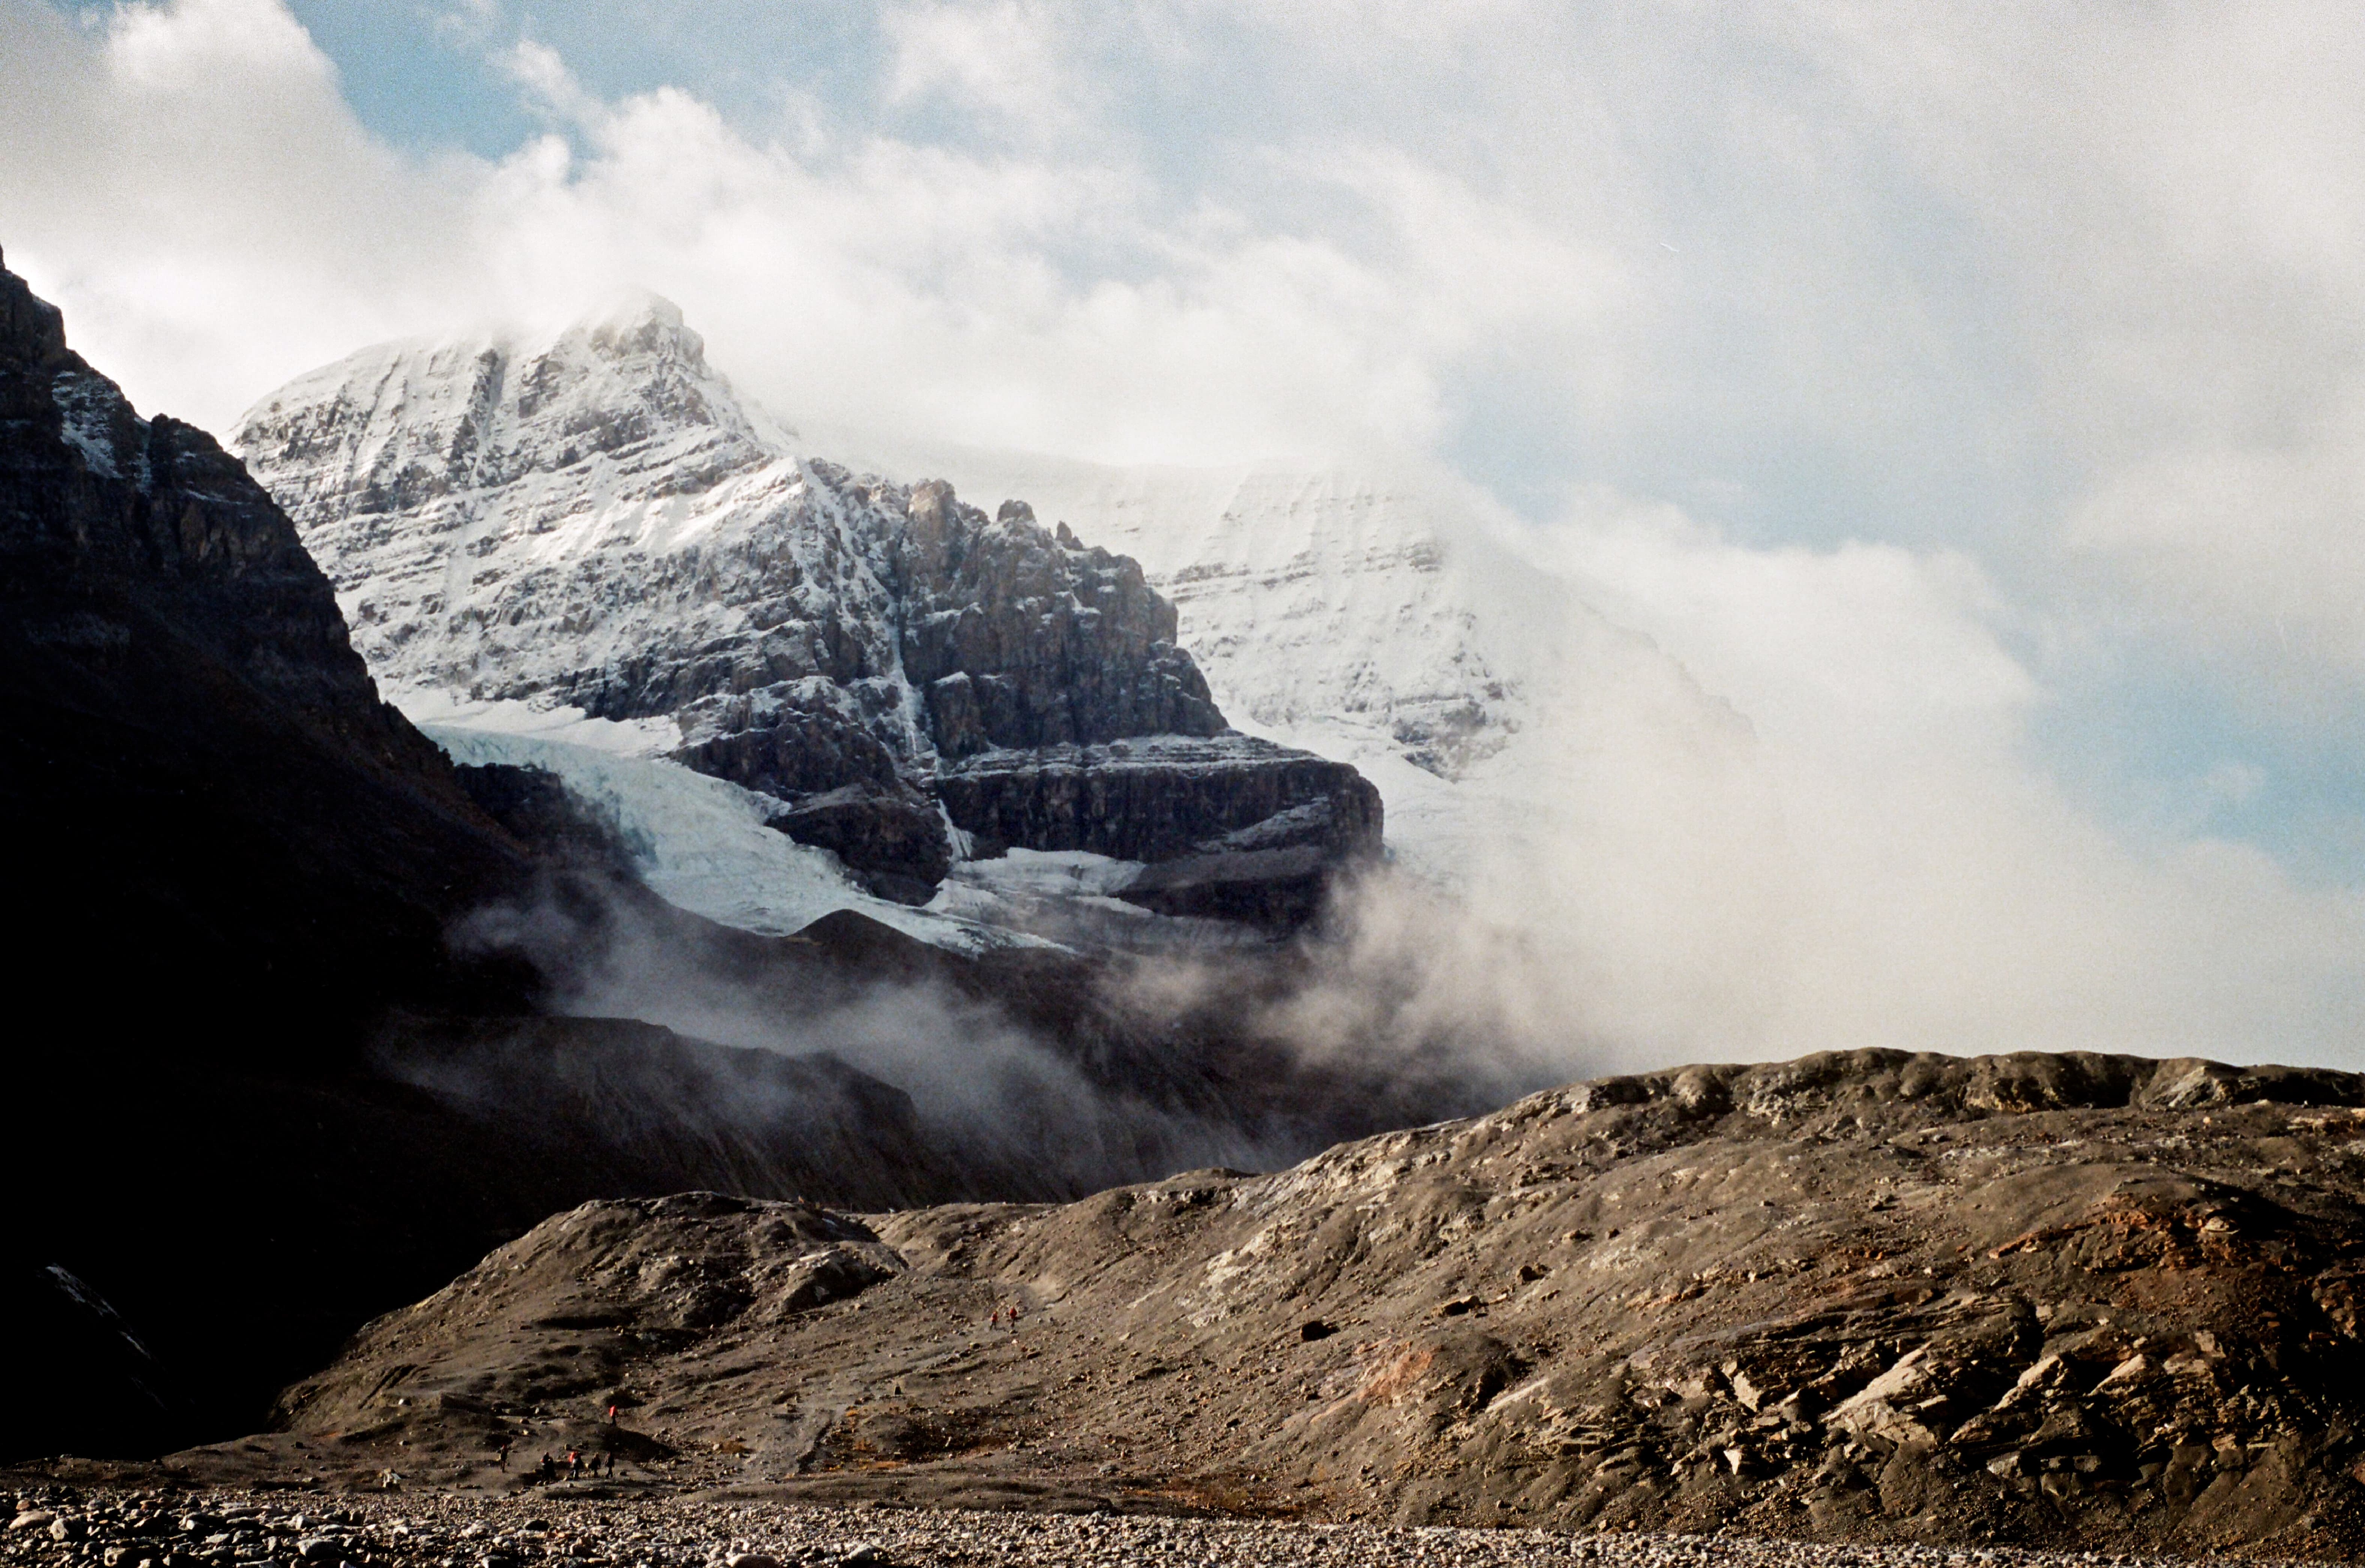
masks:
{"type": "MultiPolygon", "coordinates": [[[[825,1057],[894,1086],[974,1197],[1277,1168],[1339,1138],[1483,1109],[1509,1083],[1502,1064],[1464,1060],[1419,989],[1358,1000],[1358,965],[1322,941],[1209,960],[960,960],[882,927],[868,941],[885,958],[849,946],[844,927],[816,932],[745,937],[570,877],[478,911],[456,941],[532,963],[561,1015],[825,1057]]],[[[714,1109],[780,1114],[762,1097],[714,1109]]]]}

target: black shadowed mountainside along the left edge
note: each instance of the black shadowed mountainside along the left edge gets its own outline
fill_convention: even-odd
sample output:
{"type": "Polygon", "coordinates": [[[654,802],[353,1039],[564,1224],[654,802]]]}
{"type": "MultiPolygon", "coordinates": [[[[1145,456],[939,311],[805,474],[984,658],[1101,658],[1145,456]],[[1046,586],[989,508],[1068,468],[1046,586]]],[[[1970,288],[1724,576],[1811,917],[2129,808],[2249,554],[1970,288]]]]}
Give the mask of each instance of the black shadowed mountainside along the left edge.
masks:
{"type": "MultiPolygon", "coordinates": [[[[383,1010],[525,1005],[523,970],[456,963],[442,934],[523,885],[530,858],[378,700],[270,494],[201,430],[140,419],[9,272],[0,809],[14,913],[0,1064],[26,1123],[0,1145],[19,1197],[0,1317],[47,1315],[64,1298],[43,1282],[71,1277],[71,1301],[97,1303],[90,1322],[121,1313],[144,1346],[128,1367],[114,1331],[45,1341],[0,1445],[121,1452],[208,1419],[220,1431],[251,1407],[225,1386],[244,1379],[251,1400],[291,1343],[336,1341],[296,1327],[312,1305],[291,1305],[255,1253],[322,1192],[352,1197],[265,1197],[225,1166],[289,1159],[317,1126],[296,1086],[343,1076],[383,1010]]],[[[416,1216],[383,1225],[385,1209],[348,1235],[423,1272],[416,1216]]],[[[459,1239],[480,1246],[473,1227],[459,1239]]],[[[355,1310],[390,1294],[374,1284],[310,1279],[303,1296],[355,1310]]]]}

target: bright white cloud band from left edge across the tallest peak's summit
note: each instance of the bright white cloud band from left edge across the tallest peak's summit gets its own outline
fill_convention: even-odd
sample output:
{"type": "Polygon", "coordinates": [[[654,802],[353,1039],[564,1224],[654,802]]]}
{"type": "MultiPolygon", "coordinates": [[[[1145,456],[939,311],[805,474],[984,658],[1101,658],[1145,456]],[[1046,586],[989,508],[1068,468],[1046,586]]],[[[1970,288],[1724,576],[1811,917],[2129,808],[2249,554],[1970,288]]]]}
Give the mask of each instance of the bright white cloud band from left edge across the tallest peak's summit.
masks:
{"type": "Polygon", "coordinates": [[[792,414],[1109,459],[1438,423],[1400,279],[1223,213],[1159,222],[1126,168],[887,137],[809,161],[679,90],[598,102],[534,43],[501,64],[575,144],[421,168],[270,0],[132,7],[61,52],[83,80],[28,80],[0,132],[9,253],[137,400],[199,421],[362,341],[646,284],[792,414]]]}

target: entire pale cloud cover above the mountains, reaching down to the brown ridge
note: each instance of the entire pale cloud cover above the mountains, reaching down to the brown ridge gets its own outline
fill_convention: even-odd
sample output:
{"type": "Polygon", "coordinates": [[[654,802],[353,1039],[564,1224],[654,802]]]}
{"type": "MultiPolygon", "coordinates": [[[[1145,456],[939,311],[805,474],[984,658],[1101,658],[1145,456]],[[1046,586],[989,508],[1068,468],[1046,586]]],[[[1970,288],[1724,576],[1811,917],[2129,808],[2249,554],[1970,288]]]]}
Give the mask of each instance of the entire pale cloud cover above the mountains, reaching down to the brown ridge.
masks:
{"type": "Polygon", "coordinates": [[[277,0],[0,0],[9,265],[215,428],[646,284],[790,421],[1419,473],[1570,624],[1469,922],[1355,963],[1627,1057],[2360,1064],[2353,9],[894,5],[757,95],[447,28],[539,135],[388,144],[277,0]]]}

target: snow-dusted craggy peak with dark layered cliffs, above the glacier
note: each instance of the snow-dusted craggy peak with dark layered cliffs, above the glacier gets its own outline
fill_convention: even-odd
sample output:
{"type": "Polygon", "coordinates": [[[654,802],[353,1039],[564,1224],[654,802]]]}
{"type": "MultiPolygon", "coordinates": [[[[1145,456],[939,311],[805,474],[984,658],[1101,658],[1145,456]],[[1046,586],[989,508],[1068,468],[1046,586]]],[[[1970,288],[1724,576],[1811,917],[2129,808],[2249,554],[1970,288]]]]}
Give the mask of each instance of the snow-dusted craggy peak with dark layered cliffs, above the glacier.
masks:
{"type": "MultiPolygon", "coordinates": [[[[544,345],[364,350],[234,440],[381,679],[672,721],[672,757],[776,795],[783,830],[885,892],[944,877],[944,816],[1166,861],[1244,825],[1244,802],[1303,795],[1313,759],[1227,733],[1133,561],[1024,504],[989,518],[941,482],[799,459],[662,300],[544,345]],[[953,769],[1007,780],[1036,752],[1095,773],[1093,747],[1142,736],[1201,745],[1180,773],[1126,769],[1130,816],[1071,823],[1090,792],[1029,814],[1012,790],[939,788],[953,769]]],[[[1291,840],[1324,866],[1379,844],[1376,792],[1331,773],[1353,809],[1291,840]]]]}

